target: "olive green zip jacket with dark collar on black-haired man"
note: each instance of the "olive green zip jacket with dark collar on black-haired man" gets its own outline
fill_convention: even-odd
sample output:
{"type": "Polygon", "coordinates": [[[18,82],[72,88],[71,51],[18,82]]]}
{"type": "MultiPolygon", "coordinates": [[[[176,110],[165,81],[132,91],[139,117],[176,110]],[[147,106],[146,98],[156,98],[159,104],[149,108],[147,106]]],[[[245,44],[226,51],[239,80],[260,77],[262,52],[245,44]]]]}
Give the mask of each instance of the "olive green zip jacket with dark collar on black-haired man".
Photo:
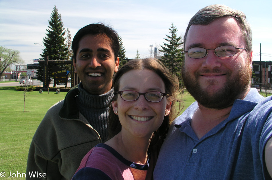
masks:
{"type": "Polygon", "coordinates": [[[78,111],[78,92],[77,86],[72,88],[44,116],[29,148],[26,179],[70,180],[86,153],[102,143],[98,132],[78,111]]]}

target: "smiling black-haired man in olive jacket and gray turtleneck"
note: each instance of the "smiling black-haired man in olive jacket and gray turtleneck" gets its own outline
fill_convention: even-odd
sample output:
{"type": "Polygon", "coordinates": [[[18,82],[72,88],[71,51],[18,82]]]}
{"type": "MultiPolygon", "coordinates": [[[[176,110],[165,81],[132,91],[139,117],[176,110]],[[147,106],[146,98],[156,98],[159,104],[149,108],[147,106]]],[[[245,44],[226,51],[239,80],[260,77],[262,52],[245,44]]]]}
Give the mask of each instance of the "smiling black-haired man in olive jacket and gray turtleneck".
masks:
{"type": "Polygon", "coordinates": [[[84,155],[108,137],[112,77],[119,66],[117,33],[100,23],[87,25],[76,33],[72,49],[81,82],[40,123],[30,145],[26,179],[72,179],[84,155]],[[41,176],[30,177],[31,172],[41,176]]]}

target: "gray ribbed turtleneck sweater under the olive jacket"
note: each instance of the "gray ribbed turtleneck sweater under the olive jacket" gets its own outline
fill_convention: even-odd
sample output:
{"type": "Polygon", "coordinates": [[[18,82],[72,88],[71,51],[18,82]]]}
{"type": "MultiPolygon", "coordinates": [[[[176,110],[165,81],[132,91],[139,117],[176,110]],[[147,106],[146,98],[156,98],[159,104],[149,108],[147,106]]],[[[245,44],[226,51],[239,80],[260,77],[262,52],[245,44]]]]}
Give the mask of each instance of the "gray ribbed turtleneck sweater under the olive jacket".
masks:
{"type": "Polygon", "coordinates": [[[78,84],[78,90],[79,94],[76,97],[78,110],[99,133],[104,142],[109,136],[107,118],[109,116],[109,101],[113,98],[114,90],[112,88],[105,94],[92,95],[83,89],[81,82],[78,84]]]}

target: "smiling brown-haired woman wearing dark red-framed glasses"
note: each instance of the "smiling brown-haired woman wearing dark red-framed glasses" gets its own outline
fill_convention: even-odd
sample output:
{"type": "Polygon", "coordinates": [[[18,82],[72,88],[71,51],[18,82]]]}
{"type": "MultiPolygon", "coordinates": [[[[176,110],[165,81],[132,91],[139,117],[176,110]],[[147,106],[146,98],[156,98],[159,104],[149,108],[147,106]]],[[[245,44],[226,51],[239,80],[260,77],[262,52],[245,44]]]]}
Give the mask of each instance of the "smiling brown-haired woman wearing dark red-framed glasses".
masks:
{"type": "Polygon", "coordinates": [[[92,148],[73,179],[152,179],[169,123],[178,78],[155,59],[131,60],[114,76],[109,141],[92,148]]]}

